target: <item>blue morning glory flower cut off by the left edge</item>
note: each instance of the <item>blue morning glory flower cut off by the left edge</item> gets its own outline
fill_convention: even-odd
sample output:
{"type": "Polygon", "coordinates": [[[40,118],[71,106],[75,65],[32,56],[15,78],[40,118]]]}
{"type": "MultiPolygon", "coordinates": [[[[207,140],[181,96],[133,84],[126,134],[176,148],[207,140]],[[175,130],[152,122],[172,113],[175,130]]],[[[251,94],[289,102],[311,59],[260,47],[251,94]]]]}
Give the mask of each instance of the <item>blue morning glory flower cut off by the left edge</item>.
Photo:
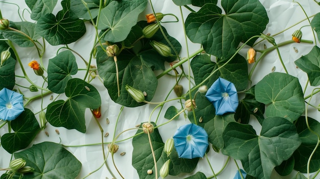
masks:
{"type": "Polygon", "coordinates": [[[24,110],[22,94],[7,88],[0,90],[0,119],[13,120],[24,110]]]}

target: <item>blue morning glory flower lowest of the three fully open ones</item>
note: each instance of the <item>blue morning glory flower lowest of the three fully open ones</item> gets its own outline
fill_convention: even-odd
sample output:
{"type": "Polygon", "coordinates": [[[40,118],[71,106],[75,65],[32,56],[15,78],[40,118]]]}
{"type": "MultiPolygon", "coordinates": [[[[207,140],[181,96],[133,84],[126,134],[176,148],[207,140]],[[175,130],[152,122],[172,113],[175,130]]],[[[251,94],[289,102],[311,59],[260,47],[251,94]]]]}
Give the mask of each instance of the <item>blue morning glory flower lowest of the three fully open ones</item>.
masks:
{"type": "Polygon", "coordinates": [[[208,134],[193,123],[180,126],[173,135],[174,147],[179,158],[203,157],[208,148],[208,134]]]}

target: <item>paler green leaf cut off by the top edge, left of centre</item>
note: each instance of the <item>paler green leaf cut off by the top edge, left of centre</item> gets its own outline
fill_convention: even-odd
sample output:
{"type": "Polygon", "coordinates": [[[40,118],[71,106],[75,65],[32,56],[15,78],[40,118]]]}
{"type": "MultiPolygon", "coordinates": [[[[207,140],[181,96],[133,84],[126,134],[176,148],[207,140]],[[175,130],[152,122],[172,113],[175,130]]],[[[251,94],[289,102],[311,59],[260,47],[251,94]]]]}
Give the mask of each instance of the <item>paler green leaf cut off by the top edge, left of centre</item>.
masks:
{"type": "Polygon", "coordinates": [[[104,40],[120,42],[126,39],[131,28],[136,24],[138,15],[147,7],[147,0],[112,1],[102,9],[98,29],[110,29],[104,40]]]}

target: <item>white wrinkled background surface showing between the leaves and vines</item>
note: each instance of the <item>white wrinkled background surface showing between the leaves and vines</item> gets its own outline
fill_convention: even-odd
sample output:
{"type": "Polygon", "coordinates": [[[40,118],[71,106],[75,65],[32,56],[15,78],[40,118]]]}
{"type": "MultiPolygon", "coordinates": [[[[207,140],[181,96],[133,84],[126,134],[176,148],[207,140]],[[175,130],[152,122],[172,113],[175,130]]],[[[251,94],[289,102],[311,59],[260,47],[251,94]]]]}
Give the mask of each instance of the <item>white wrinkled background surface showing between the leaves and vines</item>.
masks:
{"type": "MultiPolygon", "coordinates": [[[[8,3],[16,3],[19,5],[20,9],[19,12],[20,14],[24,15],[24,18],[27,20],[30,20],[30,15],[27,10],[29,9],[24,1],[14,1],[14,0],[5,0],[4,2],[8,3]]],[[[266,8],[268,17],[269,17],[269,23],[267,25],[266,30],[264,31],[264,34],[270,33],[275,34],[278,33],[288,27],[290,27],[292,24],[305,19],[305,15],[302,11],[302,9],[298,6],[296,3],[292,3],[291,0],[260,0],[260,2],[264,5],[266,8]]],[[[320,7],[314,3],[313,0],[300,0],[299,1],[302,6],[305,8],[308,16],[313,15],[317,12],[320,12],[320,7]]],[[[179,17],[180,21],[177,23],[164,23],[164,27],[166,27],[168,33],[175,37],[182,45],[182,50],[181,50],[181,57],[186,57],[187,56],[187,50],[186,50],[186,45],[185,45],[185,38],[182,30],[182,24],[181,24],[181,17],[180,17],[180,12],[179,8],[173,4],[171,0],[153,0],[152,1],[155,11],[156,12],[162,12],[162,13],[173,13],[176,16],[179,17]]],[[[218,2],[218,5],[220,4],[220,1],[218,2]]],[[[8,18],[12,21],[20,21],[18,17],[18,8],[15,5],[10,5],[10,4],[5,4],[3,2],[0,2],[0,8],[2,10],[2,15],[5,18],[8,18]]],[[[194,8],[198,9],[198,8],[194,8]]],[[[60,1],[58,2],[54,14],[61,10],[61,5],[60,1]]],[[[187,18],[188,13],[190,12],[189,10],[185,9],[182,7],[182,11],[184,12],[184,18],[187,18]]],[[[152,13],[152,10],[150,8],[150,5],[148,5],[147,9],[140,15],[140,19],[144,20],[144,15],[152,13]]],[[[167,18],[167,17],[165,17],[167,18]]],[[[167,20],[167,19],[166,19],[167,20]]],[[[169,20],[169,19],[168,19],[169,20]]],[[[172,18],[174,20],[174,18],[172,18]]],[[[297,25],[294,28],[291,28],[287,30],[286,32],[278,35],[275,37],[276,42],[282,42],[286,40],[291,39],[291,34],[295,31],[298,30],[302,25],[307,25],[308,22],[304,21],[303,23],[297,25]]],[[[91,26],[91,24],[86,23],[87,27],[87,32],[86,34],[77,42],[70,44],[69,46],[72,49],[77,50],[78,53],[80,53],[85,59],[89,58],[89,50],[93,46],[93,40],[95,36],[95,32],[91,26]]],[[[305,27],[302,29],[303,32],[303,39],[308,39],[308,40],[313,40],[313,36],[311,33],[311,28],[310,27],[305,27]]],[[[200,44],[192,44],[190,41],[189,43],[189,52],[192,54],[195,52],[197,49],[199,49],[200,44]]],[[[317,42],[318,43],[318,42],[317,42]]],[[[269,47],[270,44],[266,45],[269,47]]],[[[301,55],[306,55],[310,52],[312,48],[312,44],[304,44],[304,43],[294,43],[290,44],[284,47],[281,47],[281,55],[284,60],[284,63],[289,71],[289,74],[293,76],[297,76],[300,79],[301,85],[304,88],[305,83],[307,81],[307,75],[300,69],[297,69],[295,67],[294,61],[301,57],[301,55]],[[295,53],[293,50],[293,47],[296,47],[299,50],[299,53],[295,53]]],[[[48,60],[56,56],[57,49],[61,46],[51,46],[48,43],[46,44],[46,53],[43,56],[43,61],[45,65],[48,65],[48,60]]],[[[263,43],[260,44],[259,46],[261,49],[263,48],[263,43]]],[[[257,46],[258,48],[258,46],[257,46]]],[[[20,55],[22,63],[24,63],[26,66],[27,73],[29,74],[30,78],[38,83],[38,85],[41,85],[42,79],[39,80],[38,76],[36,76],[33,73],[33,70],[30,69],[27,64],[32,61],[32,60],[38,60],[35,59],[37,57],[37,53],[35,48],[19,48],[18,53],[20,55]]],[[[245,56],[246,50],[242,50],[243,56],[245,56]]],[[[259,53],[258,53],[259,55],[259,53]]],[[[81,61],[81,59],[76,56],[77,61],[78,61],[78,67],[79,68],[85,68],[84,63],[81,61]]],[[[93,61],[93,64],[96,64],[96,61],[93,61]]],[[[168,65],[168,64],[167,64],[168,65]]],[[[249,65],[252,67],[253,65],[249,65]]],[[[260,81],[263,76],[271,72],[271,68],[275,66],[276,70],[278,72],[284,72],[282,65],[280,64],[278,55],[275,52],[272,52],[268,54],[262,61],[261,64],[258,65],[254,77],[253,77],[253,84],[256,84],[258,81],[260,81]]],[[[186,68],[185,64],[185,69],[186,72],[188,68],[186,68]]],[[[17,73],[20,73],[19,66],[16,65],[17,68],[17,73]]],[[[161,73],[161,71],[156,71],[155,73],[161,73]]],[[[22,73],[21,73],[22,74],[22,73]]],[[[79,76],[79,78],[83,78],[83,72],[79,71],[76,76],[79,76]]],[[[74,76],[74,77],[76,77],[74,76]]],[[[17,83],[19,82],[19,79],[17,78],[17,83]]],[[[173,78],[170,77],[165,77],[161,78],[158,81],[158,89],[156,91],[155,97],[153,98],[152,101],[163,101],[165,95],[171,87],[175,84],[175,81],[173,78]]],[[[182,84],[184,85],[185,91],[187,91],[187,80],[184,79],[182,81],[182,84]]],[[[100,123],[103,127],[104,133],[109,132],[109,136],[104,138],[105,142],[110,142],[113,136],[113,132],[116,126],[116,119],[118,117],[118,114],[120,112],[121,106],[118,104],[115,104],[110,97],[108,96],[107,90],[103,86],[103,84],[98,80],[95,79],[93,81],[93,85],[99,90],[101,98],[102,98],[102,117],[99,119],[100,123]],[[109,124],[106,124],[106,118],[110,120],[109,124]]],[[[313,88],[308,87],[307,93],[309,94],[312,91],[313,88]]],[[[22,92],[25,93],[26,96],[33,95],[33,93],[30,93],[28,90],[21,89],[22,92]]],[[[44,106],[47,106],[51,100],[49,100],[49,97],[46,97],[44,99],[44,106]]],[[[53,97],[56,97],[56,95],[53,95],[53,97]]],[[[174,94],[170,96],[175,97],[174,94]]],[[[60,96],[59,98],[63,98],[63,96],[60,96]]],[[[316,95],[313,97],[311,100],[311,103],[316,105],[319,103],[319,95],[316,95]]],[[[176,106],[179,109],[179,104],[177,101],[173,101],[172,103],[165,104],[165,108],[167,109],[169,106],[176,106]]],[[[121,113],[119,123],[117,125],[116,129],[116,135],[119,134],[120,132],[134,127],[136,124],[140,124],[141,122],[147,121],[149,118],[149,115],[154,108],[154,105],[145,105],[143,107],[138,107],[138,108],[124,108],[123,112],[121,113]]],[[[39,112],[40,106],[39,103],[31,103],[30,105],[27,106],[27,108],[31,109],[34,113],[39,112]]],[[[158,110],[153,115],[152,119],[155,119],[157,115],[158,110]]],[[[165,110],[162,111],[158,124],[163,123],[167,121],[167,119],[164,119],[164,114],[165,110]]],[[[319,112],[317,112],[314,109],[311,109],[308,111],[308,114],[310,117],[318,119],[319,120],[319,112]]],[[[38,116],[36,115],[38,118],[38,116]]],[[[252,124],[255,126],[255,129],[257,133],[260,131],[260,126],[255,122],[255,120],[252,120],[252,124]]],[[[180,118],[174,122],[170,122],[170,124],[167,124],[163,127],[159,127],[159,132],[161,133],[163,140],[165,141],[167,138],[171,137],[175,130],[177,129],[178,126],[188,123],[189,120],[185,119],[183,115],[180,115],[180,118]]],[[[64,144],[64,145],[83,145],[83,144],[91,144],[91,143],[99,143],[101,142],[101,134],[100,130],[94,121],[92,114],[90,114],[89,110],[86,111],[86,126],[87,126],[87,132],[85,134],[82,134],[76,130],[66,130],[63,127],[54,127],[51,126],[49,123],[47,124],[47,127],[45,128],[44,131],[47,131],[50,136],[47,137],[44,133],[44,131],[41,131],[37,137],[34,140],[34,144],[40,143],[43,141],[52,141],[56,143],[64,144]],[[59,130],[60,135],[57,135],[55,130],[59,130]]],[[[0,135],[4,135],[5,133],[8,132],[7,127],[2,127],[0,129],[0,135]]],[[[132,135],[134,135],[136,131],[129,131],[124,133],[122,136],[120,136],[121,139],[128,138],[132,135]]],[[[131,140],[127,140],[126,142],[121,142],[118,143],[119,145],[119,151],[115,154],[115,162],[123,174],[125,178],[139,178],[138,173],[136,170],[131,166],[131,153],[132,153],[132,144],[131,140]],[[124,156],[120,156],[121,152],[126,152],[124,156]]],[[[106,147],[106,146],[105,146],[106,147]]],[[[101,151],[101,145],[97,146],[89,146],[89,147],[66,147],[67,150],[71,151],[72,154],[75,155],[75,157],[82,163],[82,169],[81,172],[78,176],[78,178],[82,178],[85,176],[87,173],[94,171],[98,166],[103,164],[103,157],[102,157],[102,151],[101,151]]],[[[10,161],[11,155],[8,154],[7,151],[5,151],[3,148],[0,148],[0,167],[7,167],[8,163],[10,161]]],[[[218,172],[225,160],[227,159],[226,156],[223,156],[222,154],[217,154],[214,152],[212,149],[210,150],[209,154],[209,160],[212,164],[212,167],[215,172],[218,172]]],[[[112,165],[111,157],[108,157],[107,160],[110,168],[112,169],[113,173],[116,174],[117,178],[120,178],[120,176],[117,174],[115,168],[112,165]]],[[[238,161],[238,164],[241,166],[241,162],[238,161]]],[[[207,160],[203,159],[199,161],[199,164],[197,168],[194,170],[194,172],[201,171],[207,176],[211,176],[212,172],[208,166],[207,160]]],[[[233,178],[235,173],[237,172],[237,167],[235,166],[235,163],[233,160],[229,162],[225,170],[218,175],[218,178],[233,178]]],[[[0,172],[2,174],[3,172],[0,172]]],[[[167,178],[184,178],[189,176],[190,174],[180,174],[178,176],[168,176],[167,178]]],[[[103,166],[100,170],[95,172],[94,174],[90,175],[88,178],[112,178],[111,175],[108,173],[107,169],[105,166],[103,166]]],[[[272,178],[291,178],[291,176],[288,177],[281,177],[277,175],[275,172],[273,172],[272,178]]],[[[317,178],[320,178],[317,177],[317,178]]]]}

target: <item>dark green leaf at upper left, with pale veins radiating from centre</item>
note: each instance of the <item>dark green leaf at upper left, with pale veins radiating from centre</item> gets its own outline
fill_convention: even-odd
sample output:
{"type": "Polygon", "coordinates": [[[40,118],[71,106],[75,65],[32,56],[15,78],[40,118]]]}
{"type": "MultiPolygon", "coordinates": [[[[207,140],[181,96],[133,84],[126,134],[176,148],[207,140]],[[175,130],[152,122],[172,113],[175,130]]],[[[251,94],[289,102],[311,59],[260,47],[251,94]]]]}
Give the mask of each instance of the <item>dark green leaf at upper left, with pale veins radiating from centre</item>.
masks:
{"type": "Polygon", "coordinates": [[[70,0],[63,0],[61,5],[63,10],[59,11],[57,16],[45,14],[39,18],[36,25],[37,34],[51,45],[75,42],[86,32],[83,20],[70,11],[70,0]]]}

